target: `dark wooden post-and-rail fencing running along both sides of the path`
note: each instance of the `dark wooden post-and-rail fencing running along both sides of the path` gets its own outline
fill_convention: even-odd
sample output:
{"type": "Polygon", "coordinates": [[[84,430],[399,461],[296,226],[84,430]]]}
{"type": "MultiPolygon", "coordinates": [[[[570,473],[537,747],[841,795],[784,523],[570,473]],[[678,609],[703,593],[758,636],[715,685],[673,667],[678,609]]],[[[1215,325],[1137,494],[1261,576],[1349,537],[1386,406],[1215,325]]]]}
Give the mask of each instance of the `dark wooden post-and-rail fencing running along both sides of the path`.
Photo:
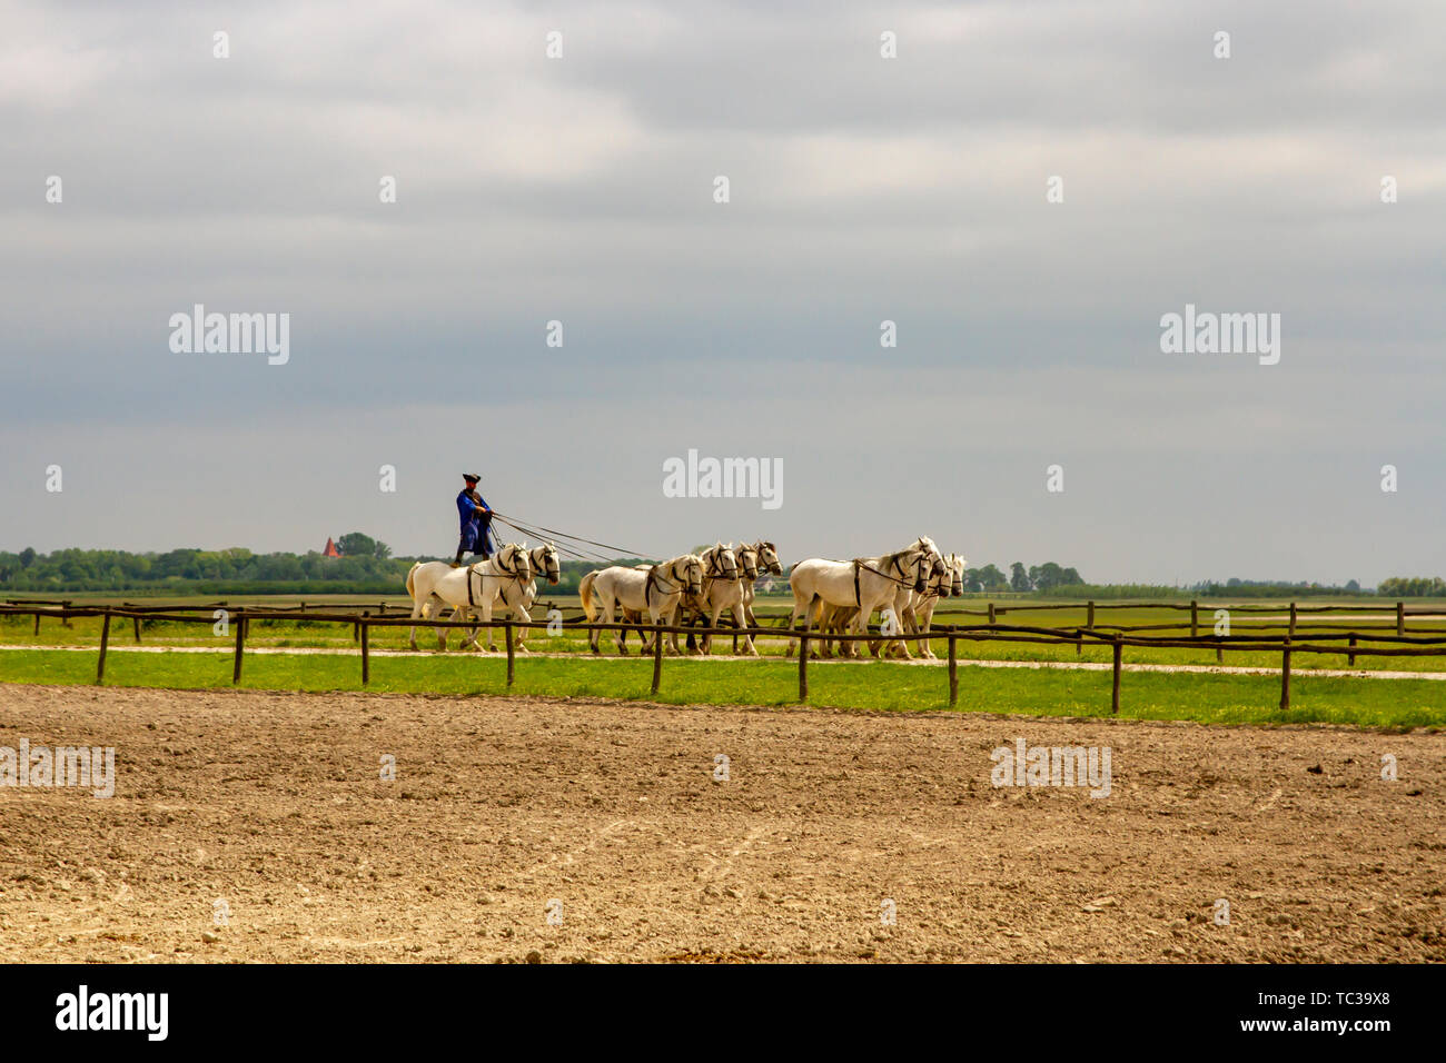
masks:
{"type": "MultiPolygon", "coordinates": [[[[305,619],[317,623],[350,623],[353,625],[353,636],[359,642],[359,655],[362,661],[362,684],[366,686],[372,680],[372,652],[370,652],[370,632],[375,628],[464,628],[469,631],[480,631],[482,628],[495,629],[502,628],[506,642],[508,655],[508,686],[513,686],[516,680],[516,651],[518,639],[515,633],[522,629],[548,629],[551,622],[548,620],[442,620],[442,619],[412,619],[411,616],[402,616],[398,613],[388,615],[388,603],[379,603],[377,612],[370,612],[370,605],[366,605],[363,612],[308,612],[305,619]]],[[[302,603],[302,607],[304,603],[302,603]]],[[[1030,606],[1031,609],[1034,606],[1030,606]]],[[[1168,606],[1165,606],[1168,607],[1168,606]]],[[[113,619],[130,619],[133,623],[134,638],[140,641],[140,622],[142,619],[150,622],[169,622],[169,623],[214,623],[213,613],[215,610],[226,610],[227,623],[234,628],[236,632],[236,648],[231,665],[231,684],[240,684],[241,681],[241,665],[246,652],[246,638],[250,632],[252,620],[295,620],[301,615],[296,607],[291,609],[272,609],[272,607],[247,607],[237,606],[228,609],[224,603],[220,605],[205,605],[205,606],[77,606],[69,602],[42,605],[36,602],[26,600],[12,600],[7,603],[0,603],[0,616],[33,616],[36,631],[40,626],[40,618],[59,619],[62,623],[69,623],[72,618],[103,618],[101,635],[100,635],[100,654],[95,664],[95,683],[101,684],[106,680],[106,654],[110,646],[110,632],[113,619]]],[[[1024,609],[1022,606],[1018,609],[1024,609]]],[[[405,610],[403,610],[405,612],[405,610]]],[[[798,641],[798,700],[808,700],[808,651],[810,644],[820,641],[827,642],[907,642],[907,641],[947,641],[949,644],[949,658],[947,658],[947,675],[949,675],[949,704],[959,704],[959,644],[960,642],[1032,642],[1044,645],[1073,645],[1077,652],[1082,652],[1086,645],[1093,646],[1109,646],[1112,651],[1113,661],[1113,683],[1111,691],[1111,713],[1119,713],[1119,678],[1124,664],[1125,648],[1151,648],[1151,649],[1213,649],[1218,659],[1223,659],[1225,652],[1278,652],[1281,655],[1281,696],[1280,707],[1290,707],[1290,675],[1291,675],[1291,657],[1294,654],[1336,654],[1346,657],[1349,664],[1355,664],[1358,657],[1446,657],[1446,631],[1432,629],[1437,633],[1434,636],[1408,635],[1406,633],[1406,626],[1403,622],[1404,610],[1401,605],[1392,609],[1397,618],[1395,633],[1385,635],[1382,629],[1358,628],[1349,632],[1330,633],[1327,631],[1313,631],[1313,632],[1296,632],[1296,609],[1291,606],[1291,633],[1284,636],[1262,636],[1262,635],[1199,635],[1193,632],[1190,636],[1176,635],[1154,638],[1139,633],[1131,633],[1122,628],[1113,628],[1109,625],[1102,626],[1082,626],[1082,628],[1043,628],[1043,626],[1028,626],[1028,625],[1004,625],[998,622],[999,613],[1005,610],[989,610],[989,623],[983,625],[943,625],[931,626],[927,632],[911,633],[889,633],[885,635],[878,629],[870,629],[868,633],[834,633],[830,632],[823,635],[817,631],[803,632],[791,629],[787,626],[753,626],[753,628],[737,628],[737,626],[690,626],[690,625],[655,625],[655,623],[633,623],[628,620],[620,620],[616,623],[593,623],[586,620],[570,620],[567,626],[571,631],[586,631],[586,632],[628,632],[635,631],[639,635],[652,636],[652,693],[656,694],[662,684],[662,636],[664,635],[696,635],[696,636],[750,636],[750,638],[790,638],[798,641]],[[1304,639],[1304,641],[1301,641],[1304,639]],[[1362,641],[1369,641],[1372,644],[1382,645],[1361,645],[1362,641]],[[1326,645],[1336,644],[1336,645],[1326,645]]],[[[1194,613],[1194,610],[1192,610],[1194,613]]],[[[1278,612],[1278,609],[1277,609],[1278,612]]],[[[1320,610],[1317,610],[1320,612],[1320,610]]],[[[1095,603],[1089,603],[1090,620],[1093,620],[1095,603]]],[[[936,613],[936,618],[938,613],[936,613]]],[[[1193,616],[1197,620],[1197,616],[1193,616]]],[[[1184,625],[1148,625],[1151,629],[1160,628],[1181,628],[1184,625]]],[[[1196,623],[1192,625],[1197,626],[1196,623]]],[[[1278,626],[1278,625],[1277,625],[1278,626]]]]}

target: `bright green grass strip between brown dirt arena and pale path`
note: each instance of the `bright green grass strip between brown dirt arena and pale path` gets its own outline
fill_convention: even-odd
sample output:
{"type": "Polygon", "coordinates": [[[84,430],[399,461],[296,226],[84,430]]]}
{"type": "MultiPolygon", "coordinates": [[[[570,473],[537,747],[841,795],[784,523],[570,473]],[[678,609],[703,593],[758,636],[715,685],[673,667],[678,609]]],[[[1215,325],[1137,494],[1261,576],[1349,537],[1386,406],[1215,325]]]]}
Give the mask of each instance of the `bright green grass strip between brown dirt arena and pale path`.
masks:
{"type": "MultiPolygon", "coordinates": [[[[253,690],[362,690],[354,657],[247,657],[241,686],[253,690]]],[[[662,691],[649,693],[651,659],[518,659],[513,694],[655,700],[671,704],[792,704],[795,665],[775,661],[701,662],[669,658],[662,691]]],[[[7,651],[0,654],[0,683],[90,684],[90,654],[7,651]]],[[[116,687],[230,687],[227,654],[114,654],[106,684],[116,687]]],[[[1108,671],[960,668],[960,710],[1034,716],[1108,716],[1108,671]]],[[[372,658],[377,693],[503,694],[500,657],[372,658]]],[[[947,709],[943,668],[891,662],[834,664],[810,670],[814,706],[885,712],[947,709]]],[[[3,699],[3,696],[0,696],[3,699]]],[[[1429,680],[1364,681],[1297,675],[1291,709],[1281,713],[1280,680],[1255,675],[1168,675],[1126,673],[1121,716],[1200,723],[1343,723],[1365,727],[1446,725],[1446,684],[1429,680]]]]}

